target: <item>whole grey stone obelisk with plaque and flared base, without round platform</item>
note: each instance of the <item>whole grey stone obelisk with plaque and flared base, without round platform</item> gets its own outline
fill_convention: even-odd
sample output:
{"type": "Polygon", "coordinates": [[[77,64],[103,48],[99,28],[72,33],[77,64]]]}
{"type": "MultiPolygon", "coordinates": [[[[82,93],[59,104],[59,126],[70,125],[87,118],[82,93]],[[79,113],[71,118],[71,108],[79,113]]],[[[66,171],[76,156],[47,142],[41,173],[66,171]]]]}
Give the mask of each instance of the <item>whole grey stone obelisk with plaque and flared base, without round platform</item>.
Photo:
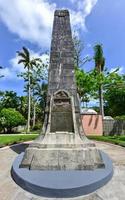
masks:
{"type": "Polygon", "coordinates": [[[82,128],[67,10],[56,10],[54,14],[43,131],[26,149],[20,167],[37,170],[104,167],[99,150],[82,128]]]}

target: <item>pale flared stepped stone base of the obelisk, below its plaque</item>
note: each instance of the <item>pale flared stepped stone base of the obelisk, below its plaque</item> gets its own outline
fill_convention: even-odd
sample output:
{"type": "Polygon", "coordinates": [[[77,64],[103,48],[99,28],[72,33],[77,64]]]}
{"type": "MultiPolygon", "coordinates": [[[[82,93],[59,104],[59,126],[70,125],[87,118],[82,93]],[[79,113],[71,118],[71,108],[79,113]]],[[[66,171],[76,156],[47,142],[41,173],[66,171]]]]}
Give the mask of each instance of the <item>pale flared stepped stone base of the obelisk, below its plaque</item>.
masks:
{"type": "Polygon", "coordinates": [[[56,132],[47,134],[41,140],[38,138],[26,149],[20,167],[34,170],[92,170],[104,167],[99,150],[85,137],[82,141],[80,137],[74,137],[74,133],[56,132]]]}

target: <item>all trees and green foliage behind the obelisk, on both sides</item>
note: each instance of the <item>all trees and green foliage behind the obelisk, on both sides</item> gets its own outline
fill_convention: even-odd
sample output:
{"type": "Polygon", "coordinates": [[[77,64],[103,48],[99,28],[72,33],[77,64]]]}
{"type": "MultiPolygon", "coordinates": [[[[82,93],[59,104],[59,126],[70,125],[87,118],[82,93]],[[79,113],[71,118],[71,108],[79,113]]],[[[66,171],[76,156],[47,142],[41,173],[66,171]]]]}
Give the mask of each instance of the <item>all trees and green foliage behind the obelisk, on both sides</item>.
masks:
{"type": "MultiPolygon", "coordinates": [[[[93,56],[83,56],[84,43],[77,36],[74,41],[74,60],[77,91],[83,106],[90,100],[99,100],[99,111],[103,116],[113,117],[125,115],[125,75],[119,74],[119,67],[109,72],[105,67],[103,46],[94,46],[93,56]],[[88,62],[93,61],[93,62],[88,62]],[[94,63],[91,71],[86,72],[84,65],[94,63]]],[[[0,91],[0,127],[3,131],[11,131],[13,127],[27,124],[30,129],[40,129],[44,120],[48,60],[43,62],[40,57],[34,58],[32,53],[23,47],[17,52],[18,63],[23,64],[25,71],[18,74],[24,79],[26,95],[18,96],[14,91],[0,91]]],[[[92,68],[92,67],[91,67],[92,68]]],[[[2,67],[0,67],[2,70],[2,67]]],[[[0,78],[2,78],[2,73],[0,78]]]]}

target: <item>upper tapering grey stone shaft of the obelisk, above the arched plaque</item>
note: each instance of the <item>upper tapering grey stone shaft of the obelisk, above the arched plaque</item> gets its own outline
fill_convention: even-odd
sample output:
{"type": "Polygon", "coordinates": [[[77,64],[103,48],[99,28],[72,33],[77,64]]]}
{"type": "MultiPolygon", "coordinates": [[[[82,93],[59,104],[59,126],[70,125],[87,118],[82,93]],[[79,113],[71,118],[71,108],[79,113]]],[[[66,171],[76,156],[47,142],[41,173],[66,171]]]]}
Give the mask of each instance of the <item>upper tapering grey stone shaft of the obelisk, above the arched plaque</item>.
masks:
{"type": "Polygon", "coordinates": [[[71,93],[76,90],[74,76],[74,46],[69,12],[57,10],[54,15],[50,52],[49,95],[59,89],[71,93]]]}

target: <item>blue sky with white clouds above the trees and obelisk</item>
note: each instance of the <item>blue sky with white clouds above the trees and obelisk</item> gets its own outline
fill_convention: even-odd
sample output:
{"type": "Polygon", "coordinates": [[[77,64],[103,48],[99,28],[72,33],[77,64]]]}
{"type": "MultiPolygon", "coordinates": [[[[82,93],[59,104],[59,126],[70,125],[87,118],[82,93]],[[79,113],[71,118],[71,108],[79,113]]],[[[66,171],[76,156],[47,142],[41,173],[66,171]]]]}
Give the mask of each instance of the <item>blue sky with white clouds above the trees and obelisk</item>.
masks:
{"type": "MultiPolygon", "coordinates": [[[[120,67],[125,73],[125,0],[0,0],[0,90],[23,95],[24,82],[17,74],[16,52],[27,47],[33,56],[46,59],[50,49],[53,15],[56,9],[68,9],[72,32],[84,42],[83,56],[93,56],[93,46],[103,44],[106,67],[120,67]]],[[[93,69],[93,62],[83,69],[93,69]]]]}

